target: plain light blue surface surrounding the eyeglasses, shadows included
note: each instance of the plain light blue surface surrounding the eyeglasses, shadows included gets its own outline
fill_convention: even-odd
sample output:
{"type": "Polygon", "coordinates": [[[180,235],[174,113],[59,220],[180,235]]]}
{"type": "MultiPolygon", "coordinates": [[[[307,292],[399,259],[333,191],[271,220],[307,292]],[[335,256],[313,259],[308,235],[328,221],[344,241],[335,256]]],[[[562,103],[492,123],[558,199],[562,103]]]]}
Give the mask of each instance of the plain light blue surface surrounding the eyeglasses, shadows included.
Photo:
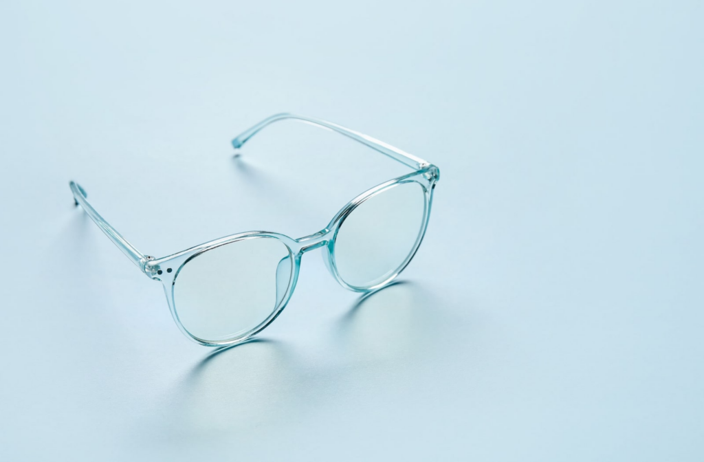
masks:
{"type": "Polygon", "coordinates": [[[700,2],[93,3],[0,4],[0,458],[704,458],[700,2]],[[207,356],[66,185],[166,255],[405,171],[295,123],[235,163],[281,111],[435,163],[433,217],[207,356]]]}

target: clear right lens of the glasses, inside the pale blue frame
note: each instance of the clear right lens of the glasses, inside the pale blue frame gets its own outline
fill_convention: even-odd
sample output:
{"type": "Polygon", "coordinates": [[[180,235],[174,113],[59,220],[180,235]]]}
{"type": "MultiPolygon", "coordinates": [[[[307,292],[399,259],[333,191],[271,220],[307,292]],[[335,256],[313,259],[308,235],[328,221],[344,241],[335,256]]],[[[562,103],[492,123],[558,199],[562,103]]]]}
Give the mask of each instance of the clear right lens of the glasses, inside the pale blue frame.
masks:
{"type": "Polygon", "coordinates": [[[348,285],[367,288],[403,269],[425,218],[425,192],[401,183],[367,199],[345,218],[334,243],[337,272],[348,285]]]}

